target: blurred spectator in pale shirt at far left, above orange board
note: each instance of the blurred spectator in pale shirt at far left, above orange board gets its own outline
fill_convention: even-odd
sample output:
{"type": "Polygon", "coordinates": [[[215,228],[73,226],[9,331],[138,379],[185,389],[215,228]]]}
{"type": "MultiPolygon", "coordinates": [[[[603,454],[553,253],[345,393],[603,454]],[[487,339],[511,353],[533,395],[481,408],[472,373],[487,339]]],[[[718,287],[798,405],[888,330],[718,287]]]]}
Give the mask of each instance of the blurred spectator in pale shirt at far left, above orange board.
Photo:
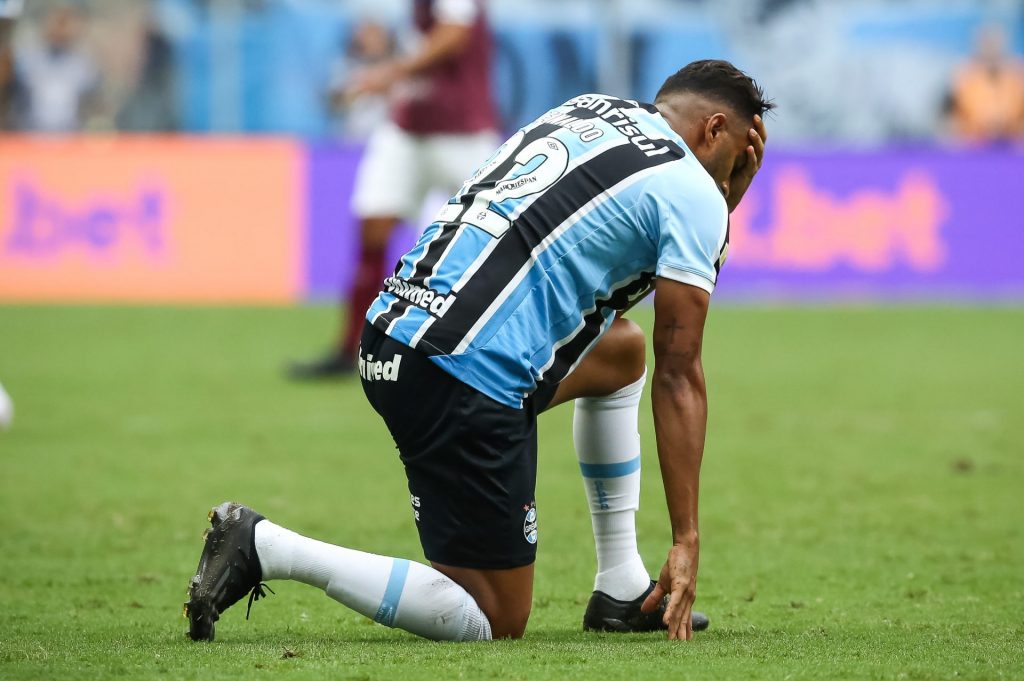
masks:
{"type": "Polygon", "coordinates": [[[85,15],[71,3],[51,7],[42,34],[14,53],[16,125],[36,132],[81,130],[95,105],[99,74],[81,46],[85,15]]]}

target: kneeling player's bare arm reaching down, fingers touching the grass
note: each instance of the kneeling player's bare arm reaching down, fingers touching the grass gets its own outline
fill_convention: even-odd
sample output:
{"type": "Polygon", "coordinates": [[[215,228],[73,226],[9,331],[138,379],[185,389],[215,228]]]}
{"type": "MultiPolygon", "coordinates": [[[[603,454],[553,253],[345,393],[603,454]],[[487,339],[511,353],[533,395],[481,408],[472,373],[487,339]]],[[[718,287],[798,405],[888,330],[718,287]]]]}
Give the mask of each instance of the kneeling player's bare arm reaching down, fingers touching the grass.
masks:
{"type": "Polygon", "coordinates": [[[699,550],[697,492],[708,423],[700,346],[710,300],[702,289],[667,279],[656,282],[651,405],[672,549],[644,608],[652,610],[670,595],[665,613],[670,639],[693,637],[690,611],[699,550]]]}

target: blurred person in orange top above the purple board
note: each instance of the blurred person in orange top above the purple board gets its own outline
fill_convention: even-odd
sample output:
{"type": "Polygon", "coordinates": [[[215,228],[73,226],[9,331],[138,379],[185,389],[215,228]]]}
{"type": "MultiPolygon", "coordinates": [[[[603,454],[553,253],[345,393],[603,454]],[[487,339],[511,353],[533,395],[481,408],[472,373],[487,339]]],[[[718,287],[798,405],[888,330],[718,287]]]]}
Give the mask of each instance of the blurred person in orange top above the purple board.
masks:
{"type": "Polygon", "coordinates": [[[1007,53],[1000,27],[978,34],[977,51],[953,77],[949,110],[953,135],[961,139],[1024,137],[1024,63],[1007,53]]]}

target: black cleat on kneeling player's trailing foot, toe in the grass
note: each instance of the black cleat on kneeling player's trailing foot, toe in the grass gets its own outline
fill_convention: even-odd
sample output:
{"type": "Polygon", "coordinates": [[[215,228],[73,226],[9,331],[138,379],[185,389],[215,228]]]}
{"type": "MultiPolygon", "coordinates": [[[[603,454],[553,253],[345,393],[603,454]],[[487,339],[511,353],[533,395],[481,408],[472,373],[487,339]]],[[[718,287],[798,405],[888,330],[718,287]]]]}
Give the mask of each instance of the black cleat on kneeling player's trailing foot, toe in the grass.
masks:
{"type": "Polygon", "coordinates": [[[224,502],[208,517],[212,527],[204,533],[206,545],[196,576],[188,583],[184,610],[194,641],[212,641],[214,623],[221,612],[246,594],[250,594],[252,608],[253,600],[266,596],[263,589],[269,589],[260,582],[263,570],[256,555],[256,523],[263,516],[241,504],[224,502]]]}

